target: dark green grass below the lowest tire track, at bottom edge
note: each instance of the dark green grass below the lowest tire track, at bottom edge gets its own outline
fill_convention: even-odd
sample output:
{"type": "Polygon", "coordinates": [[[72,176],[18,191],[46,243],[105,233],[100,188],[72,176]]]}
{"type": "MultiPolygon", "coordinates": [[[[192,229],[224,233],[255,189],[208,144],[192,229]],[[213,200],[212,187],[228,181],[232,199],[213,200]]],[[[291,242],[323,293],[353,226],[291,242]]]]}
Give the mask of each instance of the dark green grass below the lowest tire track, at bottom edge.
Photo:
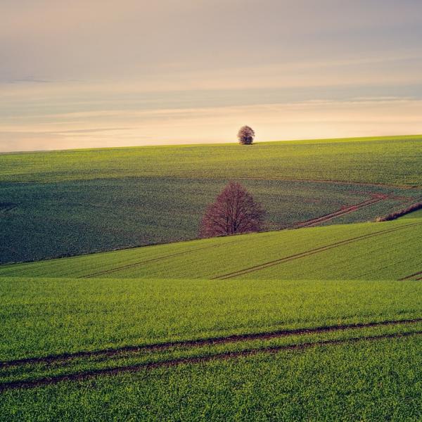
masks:
{"type": "Polygon", "coordinates": [[[9,390],[4,420],[418,421],[421,336],[9,390]]]}

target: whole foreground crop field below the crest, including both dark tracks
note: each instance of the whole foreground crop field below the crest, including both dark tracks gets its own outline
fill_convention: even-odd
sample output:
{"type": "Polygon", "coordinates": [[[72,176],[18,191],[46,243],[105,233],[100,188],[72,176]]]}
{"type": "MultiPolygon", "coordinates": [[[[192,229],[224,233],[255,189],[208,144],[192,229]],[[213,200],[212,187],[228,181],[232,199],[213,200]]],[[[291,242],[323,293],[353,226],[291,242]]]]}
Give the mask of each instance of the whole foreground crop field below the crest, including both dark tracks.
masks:
{"type": "Polygon", "coordinates": [[[6,323],[0,328],[0,408],[6,420],[92,419],[103,412],[155,419],[155,407],[160,419],[177,419],[173,406],[186,395],[189,404],[179,411],[205,418],[204,394],[210,405],[222,395],[219,407],[207,412],[228,418],[255,412],[252,403],[262,395],[264,414],[271,403],[282,406],[280,415],[324,414],[328,399],[338,406],[326,408],[327,415],[359,411],[390,418],[402,397],[409,417],[420,411],[422,286],[415,281],[0,283],[6,323]],[[346,388],[350,377],[359,379],[352,390],[346,388]],[[373,383],[382,409],[367,398],[373,383]],[[231,402],[235,385],[245,402],[238,402],[242,396],[231,402]],[[300,406],[309,388],[318,410],[300,406]]]}

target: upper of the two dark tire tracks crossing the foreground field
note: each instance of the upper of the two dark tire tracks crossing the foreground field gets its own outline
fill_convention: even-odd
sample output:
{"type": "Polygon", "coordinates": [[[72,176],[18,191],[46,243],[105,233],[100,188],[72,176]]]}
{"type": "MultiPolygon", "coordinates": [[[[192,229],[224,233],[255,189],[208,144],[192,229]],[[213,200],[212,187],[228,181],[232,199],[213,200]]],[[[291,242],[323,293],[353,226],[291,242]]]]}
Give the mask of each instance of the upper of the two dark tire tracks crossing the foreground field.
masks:
{"type": "Polygon", "coordinates": [[[74,352],[74,353],[63,353],[53,354],[45,357],[28,357],[24,359],[15,359],[12,361],[0,362],[0,369],[8,368],[11,366],[23,366],[27,364],[54,364],[58,362],[66,362],[72,359],[81,357],[112,357],[117,354],[124,353],[136,353],[142,351],[160,351],[166,350],[170,347],[200,347],[207,345],[219,345],[224,343],[236,343],[241,341],[250,340],[270,340],[271,338],[288,337],[290,335],[302,335],[302,334],[318,334],[328,333],[333,331],[347,331],[350,329],[359,328],[373,328],[378,326],[396,326],[402,324],[417,324],[422,322],[422,318],[414,319],[397,319],[387,321],[372,321],[372,322],[359,322],[356,324],[342,324],[335,326],[319,326],[310,328],[290,328],[285,330],[267,331],[264,333],[246,333],[246,334],[233,334],[225,335],[221,337],[212,338],[201,338],[197,340],[177,340],[174,342],[166,343],[153,343],[151,345],[139,345],[139,346],[123,346],[116,347],[113,349],[103,349],[94,351],[74,352]]]}

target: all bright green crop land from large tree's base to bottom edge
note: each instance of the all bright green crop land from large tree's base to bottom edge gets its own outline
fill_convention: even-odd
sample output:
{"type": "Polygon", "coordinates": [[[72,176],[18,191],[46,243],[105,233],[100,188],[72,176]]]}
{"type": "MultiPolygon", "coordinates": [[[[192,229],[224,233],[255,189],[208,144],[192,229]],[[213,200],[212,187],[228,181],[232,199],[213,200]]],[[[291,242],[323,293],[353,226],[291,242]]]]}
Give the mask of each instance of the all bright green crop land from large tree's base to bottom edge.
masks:
{"type": "Polygon", "coordinates": [[[421,234],[415,213],[0,266],[2,415],[418,420],[421,234]]]}

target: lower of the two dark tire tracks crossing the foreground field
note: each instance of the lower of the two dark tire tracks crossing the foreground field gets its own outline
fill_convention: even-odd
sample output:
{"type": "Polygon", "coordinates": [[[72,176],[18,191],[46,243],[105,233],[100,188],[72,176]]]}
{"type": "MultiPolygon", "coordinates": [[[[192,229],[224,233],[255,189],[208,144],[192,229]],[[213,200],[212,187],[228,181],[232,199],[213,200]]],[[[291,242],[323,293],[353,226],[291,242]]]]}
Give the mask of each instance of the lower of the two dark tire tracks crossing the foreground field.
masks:
{"type": "Polygon", "coordinates": [[[250,357],[260,353],[279,353],[283,350],[305,350],[310,347],[319,346],[331,346],[331,345],[343,345],[347,343],[359,343],[361,341],[376,341],[387,338],[407,338],[411,336],[421,335],[422,331],[414,331],[410,333],[390,333],[381,335],[371,335],[367,337],[351,337],[344,339],[333,339],[333,340],[319,340],[314,342],[300,343],[297,345],[280,345],[280,346],[267,346],[255,349],[241,350],[238,352],[221,352],[216,354],[210,354],[201,357],[182,357],[179,359],[170,359],[162,362],[149,362],[146,364],[134,364],[128,366],[120,366],[118,368],[104,368],[95,369],[91,371],[83,371],[78,373],[72,373],[70,375],[59,375],[49,376],[45,378],[38,378],[37,380],[31,381],[11,381],[8,383],[0,383],[0,392],[6,390],[14,390],[16,388],[37,388],[43,385],[54,385],[63,381],[84,381],[89,378],[97,376],[113,376],[120,375],[122,373],[136,373],[139,371],[151,371],[157,368],[170,368],[172,366],[178,366],[181,364],[203,364],[210,361],[235,359],[238,357],[250,357]]]}

